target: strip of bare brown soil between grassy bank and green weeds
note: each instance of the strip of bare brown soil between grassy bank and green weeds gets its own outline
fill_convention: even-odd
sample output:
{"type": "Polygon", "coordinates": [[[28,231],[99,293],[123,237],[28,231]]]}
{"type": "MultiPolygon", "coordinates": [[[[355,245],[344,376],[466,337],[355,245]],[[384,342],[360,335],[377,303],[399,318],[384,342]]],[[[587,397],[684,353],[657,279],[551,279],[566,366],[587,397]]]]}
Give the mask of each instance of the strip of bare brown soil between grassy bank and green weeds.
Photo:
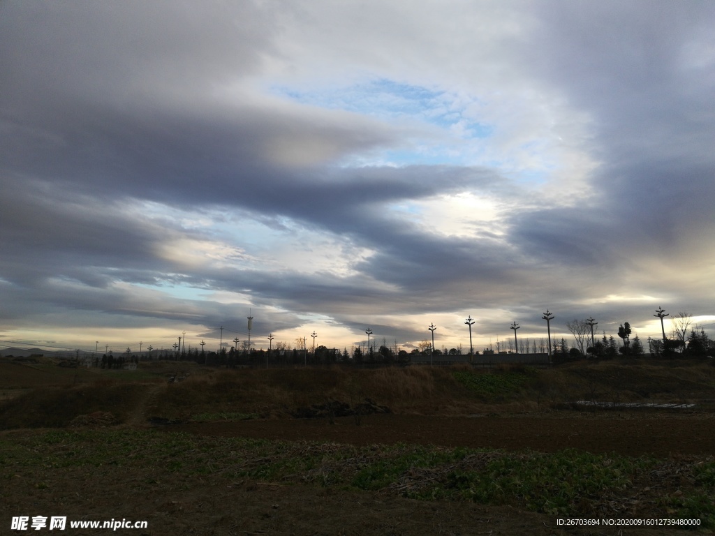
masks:
{"type": "Polygon", "coordinates": [[[487,447],[542,452],[573,447],[621,455],[711,455],[715,419],[711,415],[637,415],[638,418],[571,417],[424,417],[370,415],[356,426],[336,420],[249,420],[192,423],[167,427],[193,434],[313,440],[370,445],[397,442],[448,447],[487,447]]]}

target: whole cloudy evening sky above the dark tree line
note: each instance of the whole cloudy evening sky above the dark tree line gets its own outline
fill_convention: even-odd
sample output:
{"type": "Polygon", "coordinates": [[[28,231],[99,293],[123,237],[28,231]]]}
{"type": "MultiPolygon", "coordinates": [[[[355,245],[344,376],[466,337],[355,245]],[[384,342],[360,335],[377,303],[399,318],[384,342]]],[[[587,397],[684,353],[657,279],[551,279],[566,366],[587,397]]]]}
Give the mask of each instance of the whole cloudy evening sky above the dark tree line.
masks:
{"type": "Polygon", "coordinates": [[[713,329],[713,27],[710,0],[3,1],[0,347],[713,329]]]}

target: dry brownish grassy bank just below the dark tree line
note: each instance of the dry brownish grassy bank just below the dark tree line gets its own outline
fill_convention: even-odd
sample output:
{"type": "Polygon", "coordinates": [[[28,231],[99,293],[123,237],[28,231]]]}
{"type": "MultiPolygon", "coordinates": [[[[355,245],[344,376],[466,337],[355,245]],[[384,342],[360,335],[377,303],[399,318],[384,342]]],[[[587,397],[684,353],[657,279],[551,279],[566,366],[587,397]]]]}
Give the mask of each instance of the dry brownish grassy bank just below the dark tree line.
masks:
{"type": "Polygon", "coordinates": [[[122,422],[130,415],[131,422],[219,413],[281,418],[330,399],[350,405],[370,399],[393,412],[421,415],[538,412],[581,399],[702,405],[713,398],[715,387],[715,367],[672,362],[577,362],[538,371],[467,365],[226,370],[163,362],[142,364],[136,374],[79,369],[85,376],[77,384],[66,383],[74,378],[73,369],[3,365],[13,373],[6,382],[14,387],[4,389],[0,400],[0,428],[66,426],[77,415],[95,411],[113,412],[122,422]],[[48,384],[49,372],[55,371],[54,385],[62,387],[48,384]],[[189,376],[168,384],[167,374],[177,371],[189,376]],[[143,378],[149,379],[138,381],[143,378]]]}

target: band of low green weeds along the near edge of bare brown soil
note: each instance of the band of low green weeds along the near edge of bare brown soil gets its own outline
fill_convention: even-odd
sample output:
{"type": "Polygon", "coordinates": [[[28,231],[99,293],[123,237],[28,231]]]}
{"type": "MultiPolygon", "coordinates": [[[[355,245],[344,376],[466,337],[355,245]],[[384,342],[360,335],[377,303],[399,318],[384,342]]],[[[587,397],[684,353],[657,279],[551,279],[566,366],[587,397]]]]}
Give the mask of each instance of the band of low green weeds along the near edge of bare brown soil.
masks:
{"type": "Polygon", "coordinates": [[[631,497],[638,493],[643,505],[657,504],[669,515],[696,518],[701,527],[715,528],[715,462],[711,459],[663,465],[649,457],[578,450],[352,447],[122,428],[37,430],[0,436],[1,482],[19,477],[24,482],[49,484],[58,473],[105,466],[140,475],[127,482],[173,479],[175,485],[189,485],[204,475],[212,475],[212,482],[240,477],[383,490],[420,500],[506,504],[563,517],[606,515],[603,507],[631,505],[631,497]],[[681,482],[680,487],[660,495],[651,484],[654,468],[660,468],[659,482],[681,482]]]}

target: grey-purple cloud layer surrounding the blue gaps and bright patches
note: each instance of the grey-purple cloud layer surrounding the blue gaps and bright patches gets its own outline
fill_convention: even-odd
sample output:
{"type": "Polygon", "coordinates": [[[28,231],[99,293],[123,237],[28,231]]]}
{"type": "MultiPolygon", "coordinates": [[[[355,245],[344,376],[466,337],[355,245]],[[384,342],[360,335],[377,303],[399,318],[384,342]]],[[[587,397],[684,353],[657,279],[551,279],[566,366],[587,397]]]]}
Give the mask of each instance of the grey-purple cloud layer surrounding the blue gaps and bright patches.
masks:
{"type": "MultiPolygon", "coordinates": [[[[257,328],[266,331],[300,324],[299,312],[354,329],[356,315],[466,315],[473,307],[520,314],[535,329],[546,307],[564,321],[591,314],[617,324],[626,315],[649,319],[654,302],[628,299],[644,296],[710,313],[713,4],[550,1],[507,4],[506,13],[460,4],[485,34],[490,18],[506,28],[479,38],[493,47],[488,61],[450,48],[463,42],[440,27],[456,4],[441,21],[433,19],[436,6],[425,6],[424,13],[399,2],[381,7],[383,14],[358,20],[354,34],[341,38],[323,18],[342,27],[355,6],[341,13],[312,3],[2,4],[6,325],[62,310],[108,314],[106,325],[141,318],[217,326],[236,314],[211,299],[118,283],[247,292],[255,307],[285,311],[263,313],[257,328]],[[303,26],[309,21],[319,25],[312,34],[303,26]],[[420,35],[422,24],[428,31],[420,35]],[[351,41],[358,35],[361,49],[351,41]],[[468,64],[473,59],[484,61],[481,71],[468,64]],[[588,118],[588,139],[562,143],[578,144],[598,165],[583,195],[569,199],[565,189],[563,203],[539,202],[540,194],[535,201],[533,189],[499,167],[345,165],[430,134],[279,99],[260,86],[277,69],[282,80],[295,73],[303,83],[301,69],[320,77],[322,65],[330,79],[341,61],[346,72],[374,69],[373,76],[394,69],[399,78],[454,79],[475,91],[551,92],[566,103],[561,109],[588,118]],[[425,232],[388,209],[460,192],[508,202],[500,219],[506,234],[425,232]],[[129,209],[147,203],[192,214],[242,211],[279,231],[290,220],[301,232],[370,254],[350,259],[347,275],[290,264],[187,268],[162,247],[215,235],[129,209]]],[[[480,322],[483,332],[506,332],[501,318],[480,322]]],[[[405,340],[426,337],[398,325],[383,329],[405,340]]]]}

